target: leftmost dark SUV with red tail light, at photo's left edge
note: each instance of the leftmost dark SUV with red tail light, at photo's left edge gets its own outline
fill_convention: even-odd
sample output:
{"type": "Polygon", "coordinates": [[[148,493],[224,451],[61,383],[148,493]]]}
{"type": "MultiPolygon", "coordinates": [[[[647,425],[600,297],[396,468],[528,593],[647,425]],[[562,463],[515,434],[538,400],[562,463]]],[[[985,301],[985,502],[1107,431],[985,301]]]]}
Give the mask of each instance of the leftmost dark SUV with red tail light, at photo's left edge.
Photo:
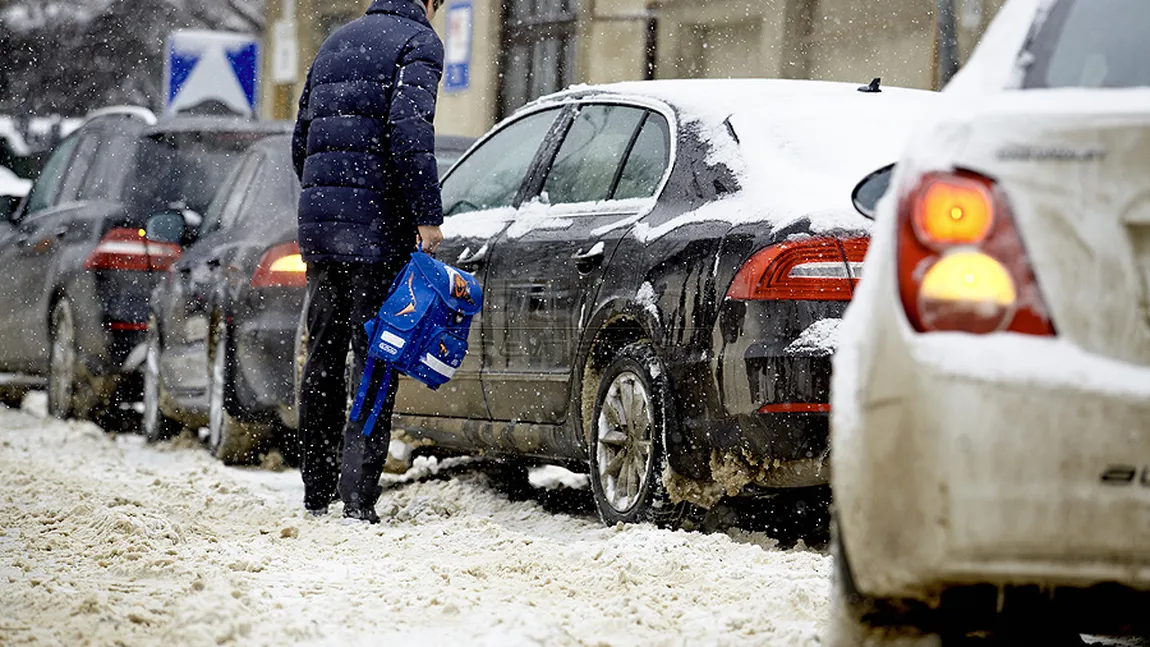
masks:
{"type": "Polygon", "coordinates": [[[0,221],[5,395],[46,382],[59,417],[107,418],[136,401],[152,287],[247,146],[285,129],[214,117],[155,123],[125,108],[94,114],[64,139],[0,221]],[[143,233],[161,213],[182,223],[169,244],[143,233]]]}

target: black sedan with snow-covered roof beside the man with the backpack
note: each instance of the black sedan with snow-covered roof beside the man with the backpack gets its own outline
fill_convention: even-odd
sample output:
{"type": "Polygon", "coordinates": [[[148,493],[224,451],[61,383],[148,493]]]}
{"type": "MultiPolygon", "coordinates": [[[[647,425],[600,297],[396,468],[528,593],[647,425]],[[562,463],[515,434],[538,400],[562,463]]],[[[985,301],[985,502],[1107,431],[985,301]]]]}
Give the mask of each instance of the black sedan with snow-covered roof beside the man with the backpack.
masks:
{"type": "Polygon", "coordinates": [[[576,87],[497,125],[443,180],[438,257],[484,288],[470,352],[402,382],[396,439],[590,471],[607,523],[825,490],[851,190],[935,98],[871,90],[576,87]]]}

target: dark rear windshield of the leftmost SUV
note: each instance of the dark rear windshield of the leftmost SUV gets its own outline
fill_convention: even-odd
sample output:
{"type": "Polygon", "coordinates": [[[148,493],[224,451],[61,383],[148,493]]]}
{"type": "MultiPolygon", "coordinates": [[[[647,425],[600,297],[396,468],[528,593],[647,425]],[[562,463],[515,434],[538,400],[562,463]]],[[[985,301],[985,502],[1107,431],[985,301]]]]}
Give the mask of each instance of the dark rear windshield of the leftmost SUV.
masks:
{"type": "Polygon", "coordinates": [[[262,137],[255,132],[168,132],[144,138],[128,186],[132,215],[146,218],[172,208],[205,214],[244,152],[262,137]]]}

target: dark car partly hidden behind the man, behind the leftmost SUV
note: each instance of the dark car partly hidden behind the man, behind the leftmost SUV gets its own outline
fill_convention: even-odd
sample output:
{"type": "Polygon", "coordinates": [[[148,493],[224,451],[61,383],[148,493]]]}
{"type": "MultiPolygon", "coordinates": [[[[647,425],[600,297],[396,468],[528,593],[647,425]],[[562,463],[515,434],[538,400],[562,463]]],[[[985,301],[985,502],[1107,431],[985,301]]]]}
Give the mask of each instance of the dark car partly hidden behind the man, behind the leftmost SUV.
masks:
{"type": "MultiPolygon", "coordinates": [[[[438,137],[440,169],[471,143],[438,137]]],[[[307,287],[299,191],[288,137],[253,146],[208,208],[198,242],[154,291],[144,370],[148,439],[206,425],[213,454],[241,463],[296,428],[292,367],[307,287]]],[[[283,444],[289,459],[293,439],[289,433],[283,444]]]]}

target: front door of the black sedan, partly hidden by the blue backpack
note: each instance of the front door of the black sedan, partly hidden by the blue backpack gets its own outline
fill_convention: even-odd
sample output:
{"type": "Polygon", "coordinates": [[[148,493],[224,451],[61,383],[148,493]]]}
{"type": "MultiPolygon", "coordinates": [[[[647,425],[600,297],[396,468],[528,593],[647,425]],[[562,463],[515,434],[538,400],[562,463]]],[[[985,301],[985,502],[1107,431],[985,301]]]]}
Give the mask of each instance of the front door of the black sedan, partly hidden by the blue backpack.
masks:
{"type": "MultiPolygon", "coordinates": [[[[524,179],[562,108],[524,115],[486,138],[455,164],[443,180],[444,240],[437,257],[473,272],[484,283],[491,244],[513,221],[522,199],[524,179]]],[[[483,311],[471,321],[468,354],[450,383],[438,391],[404,378],[396,413],[486,419],[481,369],[489,349],[483,321],[498,300],[484,290],[483,311]]]]}

